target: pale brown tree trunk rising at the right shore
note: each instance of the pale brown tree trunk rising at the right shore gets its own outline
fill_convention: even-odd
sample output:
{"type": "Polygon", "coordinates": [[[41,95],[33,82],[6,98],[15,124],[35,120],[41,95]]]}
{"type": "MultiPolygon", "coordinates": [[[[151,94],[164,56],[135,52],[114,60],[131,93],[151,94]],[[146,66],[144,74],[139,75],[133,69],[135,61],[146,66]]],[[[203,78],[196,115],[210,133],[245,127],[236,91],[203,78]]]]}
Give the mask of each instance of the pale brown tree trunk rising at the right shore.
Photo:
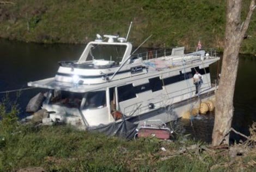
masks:
{"type": "Polygon", "coordinates": [[[216,93],[216,109],[214,130],[212,131],[212,145],[229,144],[229,131],[233,118],[233,97],[237,67],[239,63],[239,49],[251,21],[255,8],[252,0],[246,21],[241,23],[242,0],[227,1],[227,16],[225,28],[225,45],[221,68],[221,80],[216,93]]]}

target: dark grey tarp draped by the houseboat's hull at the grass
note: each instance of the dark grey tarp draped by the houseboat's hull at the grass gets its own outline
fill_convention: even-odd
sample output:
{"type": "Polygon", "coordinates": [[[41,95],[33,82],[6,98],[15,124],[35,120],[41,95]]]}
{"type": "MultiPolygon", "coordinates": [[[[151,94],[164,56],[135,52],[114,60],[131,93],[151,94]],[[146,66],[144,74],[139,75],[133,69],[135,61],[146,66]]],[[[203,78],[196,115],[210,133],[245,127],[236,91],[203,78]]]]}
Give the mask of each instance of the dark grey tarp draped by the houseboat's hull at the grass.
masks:
{"type": "Polygon", "coordinates": [[[133,124],[127,120],[108,125],[90,126],[88,131],[101,132],[107,136],[118,136],[121,138],[132,139],[135,135],[138,124],[133,124]]]}

